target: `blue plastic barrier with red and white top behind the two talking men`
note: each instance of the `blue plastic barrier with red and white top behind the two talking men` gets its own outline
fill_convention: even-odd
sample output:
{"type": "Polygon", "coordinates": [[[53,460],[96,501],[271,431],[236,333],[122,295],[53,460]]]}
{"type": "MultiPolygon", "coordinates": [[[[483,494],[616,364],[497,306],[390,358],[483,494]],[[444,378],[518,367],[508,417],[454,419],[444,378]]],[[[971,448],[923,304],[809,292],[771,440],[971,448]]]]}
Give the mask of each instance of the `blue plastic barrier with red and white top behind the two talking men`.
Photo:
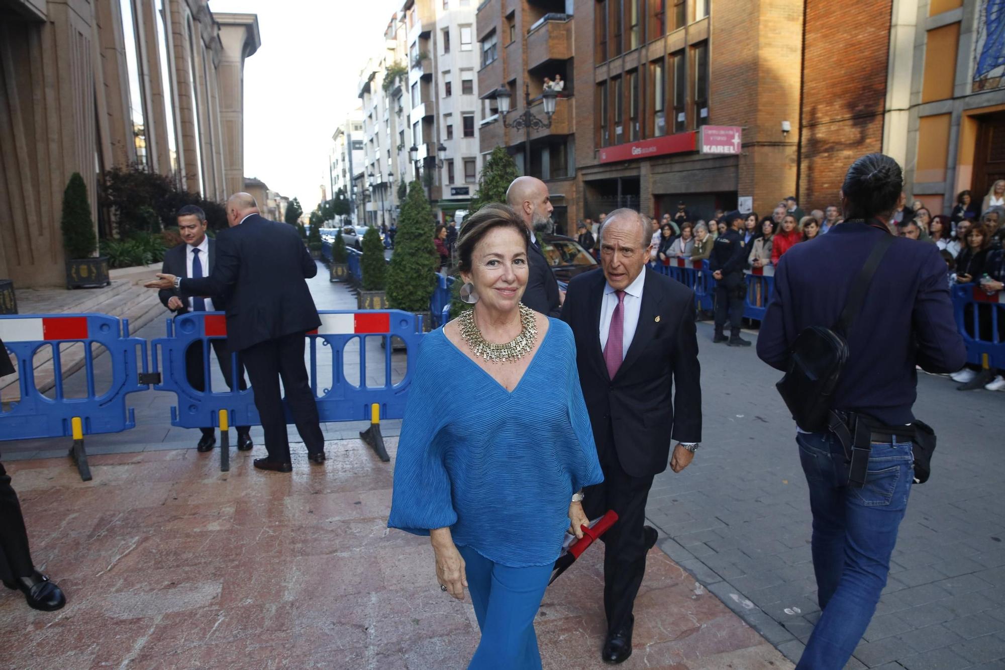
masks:
{"type": "MultiPolygon", "coordinates": [[[[322,327],[308,333],[308,373],[311,387],[318,398],[318,412],[322,422],[371,421],[367,433],[380,440],[378,455],[387,460],[380,438],[379,417],[402,418],[405,400],[411,384],[411,372],[406,371],[398,383],[392,382],[391,355],[395,345],[404,343],[406,352],[414,351],[422,337],[418,318],[414,314],[396,310],[388,311],[322,311],[322,327]],[[380,337],[384,358],[384,379],[379,385],[367,383],[368,337],[380,337]],[[400,341],[392,341],[400,338],[400,341]],[[346,345],[358,339],[360,383],[353,384],[346,378],[346,345]],[[331,347],[332,368],[319,368],[319,347],[331,347]],[[376,405],[376,416],[375,406],[376,405]],[[378,418],[375,421],[375,417],[378,418]],[[377,427],[374,429],[374,427],[377,427]],[[374,434],[376,434],[374,436],[374,434]]],[[[162,371],[162,380],[156,390],[172,391],[178,396],[178,405],[171,409],[171,424],[181,428],[218,427],[221,410],[226,412],[231,426],[258,426],[261,421],[254,406],[252,389],[230,390],[212,388],[210,366],[207,364],[206,391],[198,391],[189,383],[185,371],[185,352],[196,341],[206,342],[226,337],[226,321],[220,312],[195,312],[168,320],[167,336],[152,342],[154,371],[162,371]]],[[[209,349],[204,345],[205,360],[209,349]]],[[[407,355],[407,353],[406,353],[407,355]]],[[[234,357],[236,360],[236,356],[234,357]]],[[[234,370],[238,369],[233,365],[234,370]]],[[[234,373],[236,375],[236,372],[234,373]]],[[[232,386],[237,389],[238,384],[232,386]]],[[[292,423],[288,408],[286,415],[292,423]]],[[[364,438],[367,439],[366,437],[364,438]]],[[[374,445],[371,445],[374,446],[374,445]]],[[[375,446],[375,450],[377,447],[375,446]]],[[[221,450],[222,451],[222,450],[221,450]]],[[[221,461],[224,459],[221,453],[221,461]]],[[[222,464],[221,464],[222,465],[222,464]]]]}

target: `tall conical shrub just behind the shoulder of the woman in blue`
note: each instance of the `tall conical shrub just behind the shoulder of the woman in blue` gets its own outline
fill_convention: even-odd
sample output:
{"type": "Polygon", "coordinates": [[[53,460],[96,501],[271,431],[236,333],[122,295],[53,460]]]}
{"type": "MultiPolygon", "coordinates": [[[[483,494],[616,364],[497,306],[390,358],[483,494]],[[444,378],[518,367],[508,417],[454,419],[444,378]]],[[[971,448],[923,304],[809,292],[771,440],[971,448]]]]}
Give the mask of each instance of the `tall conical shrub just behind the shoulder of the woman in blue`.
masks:
{"type": "Polygon", "coordinates": [[[422,315],[427,330],[432,322],[429,299],[436,289],[438,267],[432,210],[422,184],[413,181],[401,205],[394,255],[387,268],[387,302],[392,309],[422,315]]]}

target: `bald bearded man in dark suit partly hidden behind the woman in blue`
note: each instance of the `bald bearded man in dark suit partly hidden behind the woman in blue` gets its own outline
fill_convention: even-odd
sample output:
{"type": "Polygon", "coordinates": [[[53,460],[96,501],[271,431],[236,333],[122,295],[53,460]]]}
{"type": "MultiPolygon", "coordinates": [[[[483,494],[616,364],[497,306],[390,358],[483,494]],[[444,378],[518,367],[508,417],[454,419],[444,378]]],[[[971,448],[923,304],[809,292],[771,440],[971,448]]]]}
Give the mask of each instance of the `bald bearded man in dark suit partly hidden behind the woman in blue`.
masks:
{"type": "Polygon", "coordinates": [[[548,185],[535,177],[517,177],[507,189],[506,200],[524,219],[531,236],[531,243],[528,245],[531,267],[527,289],[524,290],[521,302],[535,312],[558,317],[562,310],[563,295],[537,237],[539,232],[550,232],[553,225],[552,211],[555,208],[548,195],[548,185]]]}

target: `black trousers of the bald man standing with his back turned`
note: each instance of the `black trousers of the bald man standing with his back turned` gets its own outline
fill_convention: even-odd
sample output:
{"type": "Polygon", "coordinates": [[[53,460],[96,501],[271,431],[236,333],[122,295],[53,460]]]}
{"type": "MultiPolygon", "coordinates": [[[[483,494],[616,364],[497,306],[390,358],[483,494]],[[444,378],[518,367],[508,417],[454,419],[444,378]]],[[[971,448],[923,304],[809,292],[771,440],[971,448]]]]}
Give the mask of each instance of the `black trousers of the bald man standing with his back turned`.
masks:
{"type": "Polygon", "coordinates": [[[293,333],[259,342],[240,354],[251,379],[254,406],[258,408],[261,427],[265,432],[265,449],[268,450],[270,461],[289,461],[286,415],[279,392],[280,377],[286,391],[286,403],[308,452],[315,454],[325,449],[325,437],[318,420],[318,404],[304,363],[305,343],[303,333],[293,333]]]}

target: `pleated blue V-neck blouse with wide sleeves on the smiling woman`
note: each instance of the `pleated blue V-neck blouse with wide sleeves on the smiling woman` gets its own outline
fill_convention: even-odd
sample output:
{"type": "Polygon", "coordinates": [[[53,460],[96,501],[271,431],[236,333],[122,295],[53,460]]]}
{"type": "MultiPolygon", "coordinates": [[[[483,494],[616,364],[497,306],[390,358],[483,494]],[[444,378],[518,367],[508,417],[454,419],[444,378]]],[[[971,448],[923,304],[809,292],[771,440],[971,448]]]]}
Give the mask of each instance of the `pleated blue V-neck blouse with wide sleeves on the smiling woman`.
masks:
{"type": "Polygon", "coordinates": [[[455,544],[512,567],[554,562],[572,495],[604,479],[572,330],[549,319],[513,391],[442,328],[418,349],[388,526],[417,535],[449,526],[455,544]]]}

